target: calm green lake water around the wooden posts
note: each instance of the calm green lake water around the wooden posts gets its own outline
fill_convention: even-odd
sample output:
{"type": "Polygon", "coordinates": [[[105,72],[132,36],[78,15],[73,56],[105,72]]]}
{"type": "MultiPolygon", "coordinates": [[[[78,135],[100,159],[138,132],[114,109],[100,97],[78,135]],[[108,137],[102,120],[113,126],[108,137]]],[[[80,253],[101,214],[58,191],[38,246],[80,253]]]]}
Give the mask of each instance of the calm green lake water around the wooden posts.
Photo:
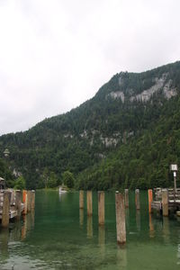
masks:
{"type": "Polygon", "coordinates": [[[180,221],[148,216],[147,193],[126,211],[127,244],[116,244],[114,193],[105,193],[105,226],[78,209],[78,193],[36,192],[35,213],[0,227],[0,269],[179,269],[180,221]]]}

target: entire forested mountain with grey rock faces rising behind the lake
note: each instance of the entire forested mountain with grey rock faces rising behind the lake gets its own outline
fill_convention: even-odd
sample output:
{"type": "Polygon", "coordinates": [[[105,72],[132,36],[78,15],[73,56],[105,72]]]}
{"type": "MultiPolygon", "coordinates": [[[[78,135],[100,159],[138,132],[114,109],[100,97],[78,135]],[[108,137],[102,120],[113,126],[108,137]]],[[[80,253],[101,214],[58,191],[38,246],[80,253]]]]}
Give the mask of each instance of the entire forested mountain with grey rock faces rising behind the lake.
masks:
{"type": "Polygon", "coordinates": [[[76,188],[170,185],[168,166],[180,159],[179,104],[180,62],[121,72],[76,109],[1,136],[0,150],[10,150],[12,169],[31,188],[65,171],[76,188]]]}

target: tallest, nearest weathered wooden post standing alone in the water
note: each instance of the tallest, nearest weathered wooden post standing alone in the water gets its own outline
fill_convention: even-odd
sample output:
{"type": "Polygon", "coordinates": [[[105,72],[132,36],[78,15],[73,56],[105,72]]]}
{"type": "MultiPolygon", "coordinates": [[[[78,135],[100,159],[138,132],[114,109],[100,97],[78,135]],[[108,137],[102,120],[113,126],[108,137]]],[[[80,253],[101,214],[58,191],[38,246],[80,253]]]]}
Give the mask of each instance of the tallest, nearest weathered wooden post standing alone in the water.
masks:
{"type": "Polygon", "coordinates": [[[124,244],[126,242],[124,197],[119,192],[115,193],[115,207],[116,207],[117,242],[118,244],[124,244]]]}

